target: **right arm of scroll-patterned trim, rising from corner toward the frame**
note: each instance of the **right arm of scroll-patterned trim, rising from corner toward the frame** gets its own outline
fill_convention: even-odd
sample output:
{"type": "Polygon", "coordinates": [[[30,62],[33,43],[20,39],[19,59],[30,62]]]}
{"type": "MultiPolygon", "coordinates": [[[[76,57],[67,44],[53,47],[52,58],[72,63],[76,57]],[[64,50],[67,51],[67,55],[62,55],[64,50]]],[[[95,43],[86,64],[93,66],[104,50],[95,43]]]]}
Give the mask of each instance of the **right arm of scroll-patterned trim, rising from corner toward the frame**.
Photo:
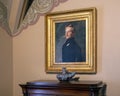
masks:
{"type": "Polygon", "coordinates": [[[34,0],[20,27],[12,33],[12,36],[17,36],[23,29],[36,23],[40,16],[51,11],[54,7],[65,1],[67,0],[34,0]]]}

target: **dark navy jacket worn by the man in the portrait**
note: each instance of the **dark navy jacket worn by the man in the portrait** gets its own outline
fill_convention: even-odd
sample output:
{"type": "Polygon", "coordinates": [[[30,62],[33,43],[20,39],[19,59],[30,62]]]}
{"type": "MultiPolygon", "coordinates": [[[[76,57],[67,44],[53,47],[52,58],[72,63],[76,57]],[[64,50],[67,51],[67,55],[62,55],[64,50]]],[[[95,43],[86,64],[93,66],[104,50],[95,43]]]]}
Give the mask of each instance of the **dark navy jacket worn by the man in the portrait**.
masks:
{"type": "Polygon", "coordinates": [[[62,47],[62,61],[80,62],[82,61],[81,58],[81,49],[75,42],[75,39],[73,37],[67,39],[62,47]]]}

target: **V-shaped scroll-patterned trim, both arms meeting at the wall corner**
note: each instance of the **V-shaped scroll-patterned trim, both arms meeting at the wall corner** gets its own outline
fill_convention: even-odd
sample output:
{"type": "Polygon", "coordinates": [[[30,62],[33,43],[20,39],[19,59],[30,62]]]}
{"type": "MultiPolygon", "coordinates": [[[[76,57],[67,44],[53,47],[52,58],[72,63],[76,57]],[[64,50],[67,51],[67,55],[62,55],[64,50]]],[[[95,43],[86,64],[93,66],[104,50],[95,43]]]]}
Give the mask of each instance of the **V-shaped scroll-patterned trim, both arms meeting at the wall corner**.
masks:
{"type": "Polygon", "coordinates": [[[10,30],[7,19],[7,7],[0,2],[0,26],[4,28],[10,36],[17,36],[22,32],[23,29],[36,23],[40,16],[51,11],[54,7],[65,1],[67,0],[34,0],[20,27],[13,32],[10,30]]]}

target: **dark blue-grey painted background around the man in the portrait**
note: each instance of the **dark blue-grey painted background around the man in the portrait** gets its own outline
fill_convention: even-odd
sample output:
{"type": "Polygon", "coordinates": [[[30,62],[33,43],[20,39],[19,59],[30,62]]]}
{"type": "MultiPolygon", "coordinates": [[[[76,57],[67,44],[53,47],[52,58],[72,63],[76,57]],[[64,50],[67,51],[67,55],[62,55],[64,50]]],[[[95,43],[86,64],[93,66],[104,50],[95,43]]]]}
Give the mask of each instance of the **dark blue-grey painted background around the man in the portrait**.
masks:
{"type": "Polygon", "coordinates": [[[65,43],[65,26],[72,24],[75,28],[75,40],[81,48],[82,62],[86,61],[86,21],[59,22],[55,24],[55,62],[62,62],[62,45],[65,43]]]}

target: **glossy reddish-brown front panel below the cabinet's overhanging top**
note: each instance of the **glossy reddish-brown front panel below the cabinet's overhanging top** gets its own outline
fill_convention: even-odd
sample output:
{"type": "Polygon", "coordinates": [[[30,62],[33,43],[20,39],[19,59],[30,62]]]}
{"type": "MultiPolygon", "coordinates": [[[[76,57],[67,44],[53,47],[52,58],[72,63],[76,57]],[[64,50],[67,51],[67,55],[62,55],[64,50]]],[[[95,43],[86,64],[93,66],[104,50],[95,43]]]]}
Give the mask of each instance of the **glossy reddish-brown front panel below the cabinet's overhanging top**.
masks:
{"type": "MultiPolygon", "coordinates": [[[[80,90],[64,90],[64,89],[60,89],[60,90],[56,90],[56,89],[32,89],[32,90],[28,90],[29,94],[32,94],[30,96],[37,96],[38,94],[44,94],[44,95],[51,95],[52,96],[89,96],[90,92],[88,91],[80,91],[80,90]]],[[[43,95],[43,96],[44,96],[43,95]]]]}

